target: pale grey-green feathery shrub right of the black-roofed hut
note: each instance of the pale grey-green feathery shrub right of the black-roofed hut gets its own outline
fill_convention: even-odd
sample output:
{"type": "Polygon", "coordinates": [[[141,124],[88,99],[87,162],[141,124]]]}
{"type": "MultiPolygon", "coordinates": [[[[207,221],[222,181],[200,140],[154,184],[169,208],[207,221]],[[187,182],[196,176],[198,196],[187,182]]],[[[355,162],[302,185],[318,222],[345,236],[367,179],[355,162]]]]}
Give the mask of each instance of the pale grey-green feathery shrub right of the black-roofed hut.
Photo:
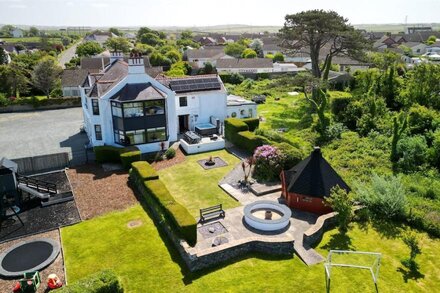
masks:
{"type": "Polygon", "coordinates": [[[378,218],[400,218],[405,214],[406,191],[399,177],[373,173],[370,184],[356,184],[356,195],[378,218]]]}

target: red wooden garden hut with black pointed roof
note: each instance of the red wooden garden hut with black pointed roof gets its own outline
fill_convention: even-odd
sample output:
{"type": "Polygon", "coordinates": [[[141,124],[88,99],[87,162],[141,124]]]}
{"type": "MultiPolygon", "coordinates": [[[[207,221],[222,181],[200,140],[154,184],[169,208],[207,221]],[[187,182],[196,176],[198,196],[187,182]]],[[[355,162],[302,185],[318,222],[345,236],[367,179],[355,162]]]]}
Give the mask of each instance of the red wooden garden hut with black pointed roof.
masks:
{"type": "Polygon", "coordinates": [[[332,209],[325,204],[333,187],[346,191],[350,187],[322,157],[321,149],[315,147],[312,154],[290,170],[281,172],[281,195],[289,207],[316,214],[332,209]]]}

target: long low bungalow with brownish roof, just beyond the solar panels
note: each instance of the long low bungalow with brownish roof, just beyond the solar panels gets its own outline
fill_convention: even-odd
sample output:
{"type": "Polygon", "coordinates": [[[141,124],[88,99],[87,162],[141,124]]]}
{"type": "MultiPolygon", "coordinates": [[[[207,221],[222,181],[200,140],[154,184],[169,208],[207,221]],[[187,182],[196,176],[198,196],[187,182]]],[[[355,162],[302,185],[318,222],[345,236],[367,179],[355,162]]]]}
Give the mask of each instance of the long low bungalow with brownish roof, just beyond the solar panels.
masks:
{"type": "Polygon", "coordinates": [[[219,73],[272,73],[273,62],[269,58],[252,59],[219,59],[217,60],[219,73]]]}

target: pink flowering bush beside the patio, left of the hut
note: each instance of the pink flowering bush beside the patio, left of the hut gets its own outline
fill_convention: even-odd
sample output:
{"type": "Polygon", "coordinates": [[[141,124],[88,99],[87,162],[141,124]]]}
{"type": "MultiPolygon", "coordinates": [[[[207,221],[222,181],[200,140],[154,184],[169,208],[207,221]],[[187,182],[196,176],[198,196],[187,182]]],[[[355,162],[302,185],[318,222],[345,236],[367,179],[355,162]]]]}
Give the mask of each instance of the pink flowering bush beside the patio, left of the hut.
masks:
{"type": "Polygon", "coordinates": [[[278,148],[270,145],[257,147],[254,152],[254,178],[271,181],[279,178],[282,169],[282,155],[278,148]]]}

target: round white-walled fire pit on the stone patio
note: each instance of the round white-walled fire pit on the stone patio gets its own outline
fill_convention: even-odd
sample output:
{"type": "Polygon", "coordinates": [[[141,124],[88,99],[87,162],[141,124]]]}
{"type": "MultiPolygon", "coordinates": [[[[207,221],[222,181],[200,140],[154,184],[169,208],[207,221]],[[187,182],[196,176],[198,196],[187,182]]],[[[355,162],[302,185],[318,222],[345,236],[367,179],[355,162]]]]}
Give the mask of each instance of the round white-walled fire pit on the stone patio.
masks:
{"type": "Polygon", "coordinates": [[[244,208],[246,224],[261,231],[281,230],[289,225],[291,216],[287,206],[275,201],[256,201],[244,208]]]}

